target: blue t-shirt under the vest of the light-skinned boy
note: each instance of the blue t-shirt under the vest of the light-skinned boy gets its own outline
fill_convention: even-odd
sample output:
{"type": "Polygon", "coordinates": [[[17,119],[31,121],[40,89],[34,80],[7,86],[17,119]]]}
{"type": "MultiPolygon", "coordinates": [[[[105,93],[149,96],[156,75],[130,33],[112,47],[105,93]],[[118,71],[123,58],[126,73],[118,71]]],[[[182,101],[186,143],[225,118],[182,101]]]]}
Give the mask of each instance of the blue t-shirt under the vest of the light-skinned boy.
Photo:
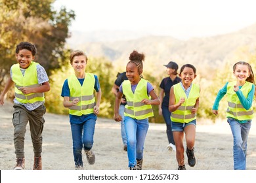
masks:
{"type": "MultiPolygon", "coordinates": [[[[95,90],[96,92],[98,92],[98,90],[100,90],[100,83],[98,82],[98,76],[95,76],[95,90]]],[[[81,86],[83,85],[83,81],[85,80],[85,78],[77,78],[81,84],[81,86]]],[[[61,96],[62,97],[70,97],[70,87],[68,86],[68,79],[66,79],[64,81],[64,84],[62,86],[62,92],[61,92],[61,96]]],[[[95,114],[85,114],[82,116],[75,116],[70,114],[70,123],[71,124],[81,124],[83,122],[86,122],[87,120],[90,119],[97,119],[97,116],[95,114]]]]}

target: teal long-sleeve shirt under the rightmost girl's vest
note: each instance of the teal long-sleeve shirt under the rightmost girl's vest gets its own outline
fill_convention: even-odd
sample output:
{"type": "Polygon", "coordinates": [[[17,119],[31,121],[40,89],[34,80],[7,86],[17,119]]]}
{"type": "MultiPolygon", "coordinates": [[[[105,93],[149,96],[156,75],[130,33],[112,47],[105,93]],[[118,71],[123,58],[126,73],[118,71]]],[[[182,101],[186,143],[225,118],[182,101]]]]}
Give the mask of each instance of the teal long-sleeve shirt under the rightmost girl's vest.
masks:
{"type": "MultiPolygon", "coordinates": [[[[221,88],[221,90],[219,90],[219,93],[217,94],[217,97],[216,97],[215,102],[213,104],[213,110],[218,110],[219,102],[224,97],[224,95],[226,95],[227,86],[228,86],[228,82],[226,82],[226,84],[223,86],[223,88],[221,88]]],[[[239,89],[241,89],[241,88],[242,88],[242,86],[239,86],[239,89]]],[[[238,92],[236,92],[236,95],[238,95],[238,99],[240,100],[241,104],[243,105],[243,107],[246,110],[248,110],[251,107],[252,103],[253,103],[254,92],[255,92],[255,85],[254,84],[251,86],[251,91],[248,93],[247,98],[244,97],[241,90],[238,90],[238,92]]]]}

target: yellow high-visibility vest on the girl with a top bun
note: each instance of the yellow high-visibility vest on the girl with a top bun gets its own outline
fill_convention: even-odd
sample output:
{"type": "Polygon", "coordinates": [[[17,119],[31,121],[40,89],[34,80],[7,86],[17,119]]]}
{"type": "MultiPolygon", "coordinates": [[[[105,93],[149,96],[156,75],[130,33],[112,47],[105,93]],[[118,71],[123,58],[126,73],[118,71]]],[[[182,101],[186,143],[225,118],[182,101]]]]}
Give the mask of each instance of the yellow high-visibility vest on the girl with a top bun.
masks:
{"type": "Polygon", "coordinates": [[[131,90],[131,82],[129,80],[123,81],[123,94],[126,97],[127,105],[125,105],[125,116],[143,120],[154,116],[152,106],[141,103],[142,99],[150,99],[147,93],[147,80],[140,79],[135,93],[131,90]]]}

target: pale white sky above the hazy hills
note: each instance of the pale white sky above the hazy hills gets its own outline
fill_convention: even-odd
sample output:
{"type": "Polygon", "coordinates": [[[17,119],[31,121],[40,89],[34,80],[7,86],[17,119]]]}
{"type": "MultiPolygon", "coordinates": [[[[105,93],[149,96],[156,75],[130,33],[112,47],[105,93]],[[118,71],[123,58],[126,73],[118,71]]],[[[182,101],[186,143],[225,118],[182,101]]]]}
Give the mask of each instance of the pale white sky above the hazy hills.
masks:
{"type": "Polygon", "coordinates": [[[255,0],[56,0],[74,10],[70,31],[133,31],[177,39],[231,33],[256,24],[255,0]]]}

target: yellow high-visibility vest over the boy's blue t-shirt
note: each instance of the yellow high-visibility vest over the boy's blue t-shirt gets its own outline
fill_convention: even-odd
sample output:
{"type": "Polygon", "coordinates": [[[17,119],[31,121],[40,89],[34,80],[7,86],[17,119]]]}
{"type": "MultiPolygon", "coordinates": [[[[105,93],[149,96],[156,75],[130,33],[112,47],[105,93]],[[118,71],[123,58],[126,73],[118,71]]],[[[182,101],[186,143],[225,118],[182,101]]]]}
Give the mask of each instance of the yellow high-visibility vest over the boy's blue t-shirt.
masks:
{"type": "Polygon", "coordinates": [[[79,98],[77,105],[69,107],[69,112],[75,116],[93,113],[95,107],[95,76],[91,73],[85,73],[85,80],[81,86],[75,75],[68,78],[68,86],[70,88],[70,101],[79,98]]]}

